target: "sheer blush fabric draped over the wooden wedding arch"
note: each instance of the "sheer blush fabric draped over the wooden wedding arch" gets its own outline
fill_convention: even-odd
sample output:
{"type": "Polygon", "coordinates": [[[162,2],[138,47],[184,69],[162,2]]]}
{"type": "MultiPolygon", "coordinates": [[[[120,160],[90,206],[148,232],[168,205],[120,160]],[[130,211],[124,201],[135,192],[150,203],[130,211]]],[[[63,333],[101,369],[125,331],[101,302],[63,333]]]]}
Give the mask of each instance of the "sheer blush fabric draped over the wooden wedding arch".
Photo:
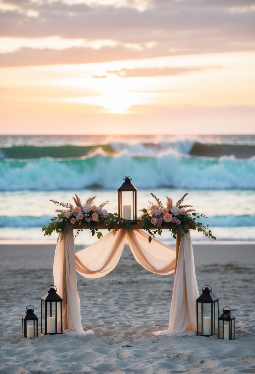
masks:
{"type": "MultiPolygon", "coordinates": [[[[175,249],[153,239],[143,230],[118,230],[102,237],[98,242],[75,253],[73,231],[70,230],[58,241],[53,264],[54,283],[63,298],[63,275],[66,275],[66,298],[63,301],[63,324],[65,333],[84,335],[80,317],[80,298],[77,292],[76,271],[85,278],[100,278],[113,270],[119,262],[126,239],[135,260],[150,272],[168,275],[175,270],[175,249]],[[65,261],[64,261],[65,256],[65,261]],[[64,267],[64,270],[63,270],[64,267]],[[65,274],[63,273],[65,272],[65,274]]],[[[193,335],[196,331],[196,298],[199,296],[193,248],[190,234],[180,242],[178,263],[173,287],[169,328],[156,331],[155,335],[193,335]]]]}

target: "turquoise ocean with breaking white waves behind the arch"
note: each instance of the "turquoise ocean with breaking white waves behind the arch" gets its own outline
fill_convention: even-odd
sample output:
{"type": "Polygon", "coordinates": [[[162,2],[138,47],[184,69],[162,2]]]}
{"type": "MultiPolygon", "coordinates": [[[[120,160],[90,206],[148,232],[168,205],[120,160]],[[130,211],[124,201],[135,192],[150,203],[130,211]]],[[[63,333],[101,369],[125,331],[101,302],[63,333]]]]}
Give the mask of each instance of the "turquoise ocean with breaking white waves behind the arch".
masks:
{"type": "MultiPolygon", "coordinates": [[[[55,243],[42,227],[55,217],[50,199],[82,202],[97,196],[118,211],[117,190],[126,175],[138,188],[139,210],[183,194],[206,215],[218,241],[255,241],[255,136],[1,136],[0,243],[55,243]]],[[[85,230],[76,245],[95,240],[85,230]]],[[[103,230],[107,233],[107,230],[103,230]]],[[[194,241],[210,242],[192,232],[194,241]]],[[[159,238],[172,245],[168,231],[159,238]]]]}

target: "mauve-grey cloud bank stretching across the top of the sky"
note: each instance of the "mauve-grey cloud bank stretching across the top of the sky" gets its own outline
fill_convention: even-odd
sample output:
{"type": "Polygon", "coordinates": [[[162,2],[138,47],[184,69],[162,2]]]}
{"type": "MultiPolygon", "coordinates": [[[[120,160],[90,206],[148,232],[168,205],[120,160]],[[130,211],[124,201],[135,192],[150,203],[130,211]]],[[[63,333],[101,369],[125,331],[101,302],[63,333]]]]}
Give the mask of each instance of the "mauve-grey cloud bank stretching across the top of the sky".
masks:
{"type": "Polygon", "coordinates": [[[108,39],[116,46],[61,51],[51,47],[22,48],[1,54],[2,66],[79,64],[255,49],[254,0],[151,0],[143,11],[128,6],[128,1],[119,7],[70,5],[61,0],[4,0],[3,4],[14,8],[0,12],[2,37],[108,39]]]}

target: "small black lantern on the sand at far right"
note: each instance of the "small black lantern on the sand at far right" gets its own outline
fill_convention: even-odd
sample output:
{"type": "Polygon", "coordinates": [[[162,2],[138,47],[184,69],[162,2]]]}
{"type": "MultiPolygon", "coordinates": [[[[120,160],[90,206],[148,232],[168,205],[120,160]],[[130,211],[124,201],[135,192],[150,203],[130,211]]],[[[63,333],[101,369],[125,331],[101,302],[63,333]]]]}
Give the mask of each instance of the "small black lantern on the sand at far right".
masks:
{"type": "Polygon", "coordinates": [[[223,308],[223,314],[218,318],[218,337],[225,340],[236,338],[236,317],[231,314],[229,306],[223,308]]]}

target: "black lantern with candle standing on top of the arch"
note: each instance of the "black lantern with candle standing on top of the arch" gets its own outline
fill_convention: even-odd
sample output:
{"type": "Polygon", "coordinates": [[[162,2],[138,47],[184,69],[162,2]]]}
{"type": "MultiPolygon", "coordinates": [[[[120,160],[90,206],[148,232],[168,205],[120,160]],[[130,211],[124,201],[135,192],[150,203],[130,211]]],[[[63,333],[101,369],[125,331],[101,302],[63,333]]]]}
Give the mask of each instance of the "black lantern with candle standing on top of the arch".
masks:
{"type": "Polygon", "coordinates": [[[118,190],[119,217],[135,224],[137,219],[137,188],[131,183],[131,177],[124,177],[125,182],[118,190]]]}

